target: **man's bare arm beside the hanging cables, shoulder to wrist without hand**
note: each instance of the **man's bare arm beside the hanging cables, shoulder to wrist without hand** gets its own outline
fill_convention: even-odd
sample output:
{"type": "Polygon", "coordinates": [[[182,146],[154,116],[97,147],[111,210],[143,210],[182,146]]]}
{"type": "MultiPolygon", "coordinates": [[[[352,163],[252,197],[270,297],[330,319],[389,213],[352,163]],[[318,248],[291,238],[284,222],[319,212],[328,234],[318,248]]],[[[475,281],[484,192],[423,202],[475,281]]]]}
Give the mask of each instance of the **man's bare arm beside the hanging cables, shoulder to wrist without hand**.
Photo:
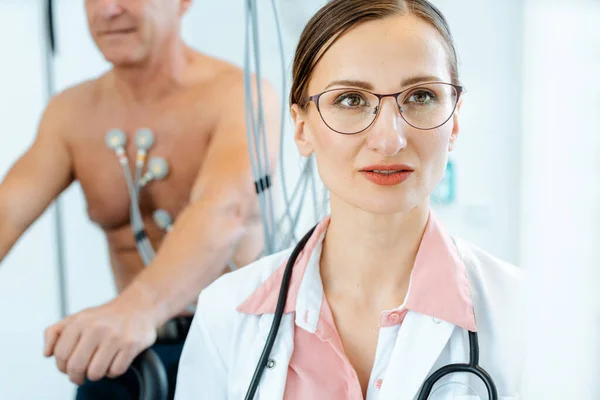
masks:
{"type": "MultiPolygon", "coordinates": [[[[200,291],[220,276],[245,233],[248,217],[257,209],[249,151],[253,143],[247,139],[242,76],[226,89],[221,118],[190,204],[177,218],[154,262],[131,285],[133,292],[142,288],[150,294],[158,324],[195,302],[200,291]]],[[[281,104],[266,81],[262,95],[269,166],[274,171],[279,155],[281,104]]]]}

